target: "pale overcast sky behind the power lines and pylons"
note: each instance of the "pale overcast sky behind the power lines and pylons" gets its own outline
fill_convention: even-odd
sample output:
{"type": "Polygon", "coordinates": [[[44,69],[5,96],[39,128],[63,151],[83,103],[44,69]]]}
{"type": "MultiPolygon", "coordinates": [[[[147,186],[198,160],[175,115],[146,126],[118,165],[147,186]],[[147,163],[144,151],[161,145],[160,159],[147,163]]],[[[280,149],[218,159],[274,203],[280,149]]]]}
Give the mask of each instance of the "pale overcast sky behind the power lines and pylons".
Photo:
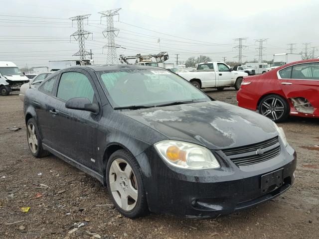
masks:
{"type": "MultiPolygon", "coordinates": [[[[98,12],[122,8],[116,43],[118,54],[156,54],[167,51],[176,61],[207,55],[213,60],[234,61],[238,54],[233,40],[247,37],[244,60],[258,58],[255,39],[268,38],[264,60],[274,53],[287,52],[288,43],[319,46],[319,1],[317,0],[0,0],[0,61],[13,61],[19,67],[47,66],[49,60],[76,59],[77,42],[70,35],[76,24],[69,17],[92,14],[85,30],[93,33],[86,41],[95,63],[106,62],[107,40],[98,12]],[[158,43],[160,38],[160,44],[158,43]]],[[[117,18],[115,18],[117,20],[117,18]]],[[[102,24],[105,24],[105,18],[102,24]]],[[[309,49],[311,51],[312,48],[309,49]]],[[[315,53],[319,55],[319,52],[315,53]]]]}

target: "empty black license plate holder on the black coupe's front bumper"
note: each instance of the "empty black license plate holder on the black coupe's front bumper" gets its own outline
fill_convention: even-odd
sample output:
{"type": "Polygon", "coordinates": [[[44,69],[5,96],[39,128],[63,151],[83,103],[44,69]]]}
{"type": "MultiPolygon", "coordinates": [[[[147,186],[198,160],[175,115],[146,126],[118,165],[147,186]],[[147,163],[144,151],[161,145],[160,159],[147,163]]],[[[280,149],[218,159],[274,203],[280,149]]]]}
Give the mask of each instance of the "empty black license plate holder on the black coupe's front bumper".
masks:
{"type": "Polygon", "coordinates": [[[284,169],[278,169],[261,176],[261,193],[269,193],[283,186],[284,169]]]}

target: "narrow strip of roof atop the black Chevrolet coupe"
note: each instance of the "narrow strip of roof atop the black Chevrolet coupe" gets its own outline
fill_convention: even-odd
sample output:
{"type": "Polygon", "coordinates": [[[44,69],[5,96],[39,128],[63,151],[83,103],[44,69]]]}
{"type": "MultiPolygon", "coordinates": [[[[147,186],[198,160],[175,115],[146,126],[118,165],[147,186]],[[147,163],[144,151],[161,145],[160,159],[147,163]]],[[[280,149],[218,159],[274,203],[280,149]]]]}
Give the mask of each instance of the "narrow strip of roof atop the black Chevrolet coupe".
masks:
{"type": "Polygon", "coordinates": [[[86,66],[76,66],[70,68],[91,68],[94,71],[113,71],[113,70],[130,70],[130,69],[149,69],[149,70],[160,70],[163,68],[155,66],[140,66],[134,64],[110,64],[110,65],[86,65],[86,66]]]}

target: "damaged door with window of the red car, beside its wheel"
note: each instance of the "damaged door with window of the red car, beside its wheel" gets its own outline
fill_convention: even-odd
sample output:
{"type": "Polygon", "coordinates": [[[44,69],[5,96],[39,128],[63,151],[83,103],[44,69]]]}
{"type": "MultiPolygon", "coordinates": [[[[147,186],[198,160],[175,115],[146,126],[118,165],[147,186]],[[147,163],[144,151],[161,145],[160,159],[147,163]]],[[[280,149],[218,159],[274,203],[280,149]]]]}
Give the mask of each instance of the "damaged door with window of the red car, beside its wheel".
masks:
{"type": "MultiPolygon", "coordinates": [[[[278,78],[287,99],[293,101],[295,106],[309,102],[319,112],[319,62],[284,68],[278,72],[278,78]]],[[[297,107],[296,110],[298,109],[303,111],[302,108],[297,107]]],[[[307,111],[303,113],[305,112],[307,111]]]]}

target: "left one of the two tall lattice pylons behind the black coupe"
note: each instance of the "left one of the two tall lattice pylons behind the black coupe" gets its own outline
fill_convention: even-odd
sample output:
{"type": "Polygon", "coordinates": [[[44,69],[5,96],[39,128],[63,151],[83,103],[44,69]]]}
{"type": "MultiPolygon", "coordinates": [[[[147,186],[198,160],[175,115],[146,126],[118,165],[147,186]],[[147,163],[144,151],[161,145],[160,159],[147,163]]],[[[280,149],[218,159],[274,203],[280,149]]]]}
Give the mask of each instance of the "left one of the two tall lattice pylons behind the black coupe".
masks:
{"type": "Polygon", "coordinates": [[[70,37],[74,37],[75,40],[79,42],[79,51],[75,53],[73,56],[80,56],[80,60],[85,60],[86,55],[90,55],[91,53],[85,50],[85,40],[88,39],[89,35],[92,34],[92,32],[85,31],[83,26],[83,20],[88,19],[91,14],[86,15],[79,15],[70,17],[69,19],[72,20],[72,26],[73,21],[77,21],[78,30],[74,32],[70,37]]]}

